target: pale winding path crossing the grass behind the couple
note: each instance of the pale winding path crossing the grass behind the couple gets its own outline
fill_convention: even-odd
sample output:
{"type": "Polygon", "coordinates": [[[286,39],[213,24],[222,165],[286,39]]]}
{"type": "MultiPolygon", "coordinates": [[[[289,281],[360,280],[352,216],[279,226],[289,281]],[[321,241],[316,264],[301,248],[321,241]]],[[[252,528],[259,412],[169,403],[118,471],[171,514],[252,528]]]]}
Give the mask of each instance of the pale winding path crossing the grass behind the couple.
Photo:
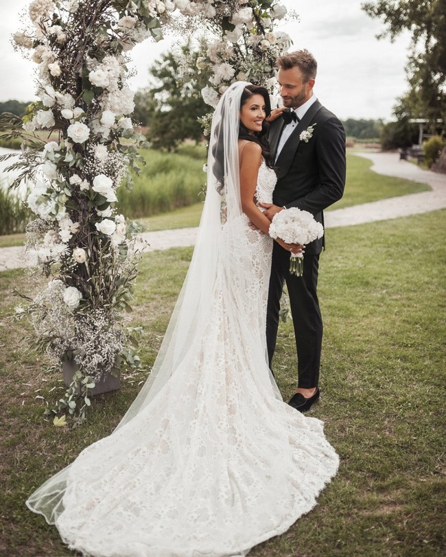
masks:
{"type": "MultiPolygon", "coordinates": [[[[325,213],[326,228],[353,226],[365,222],[407,217],[446,208],[446,175],[423,170],[408,161],[400,161],[397,153],[357,153],[373,162],[372,169],[378,174],[396,176],[415,182],[424,182],[431,191],[400,195],[370,203],[362,203],[344,209],[333,209],[325,213]]],[[[145,252],[183,248],[195,244],[198,228],[159,230],[142,234],[148,246],[145,252]]],[[[23,248],[0,248],[0,272],[27,266],[23,248]]]]}

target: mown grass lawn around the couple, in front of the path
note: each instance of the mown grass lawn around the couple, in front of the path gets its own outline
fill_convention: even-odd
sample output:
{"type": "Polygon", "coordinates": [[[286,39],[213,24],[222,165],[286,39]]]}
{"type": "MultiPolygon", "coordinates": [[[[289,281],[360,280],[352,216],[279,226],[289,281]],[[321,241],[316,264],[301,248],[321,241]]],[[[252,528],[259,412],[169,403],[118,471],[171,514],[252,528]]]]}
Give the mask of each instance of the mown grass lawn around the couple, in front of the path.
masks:
{"type": "MultiPolygon", "coordinates": [[[[446,211],[436,211],[329,230],[319,287],[322,395],[310,415],[325,421],[340,470],[312,512],[250,556],[445,554],[445,217],[446,211]]],[[[145,327],[146,370],[190,257],[191,249],[174,249],[145,254],[141,262],[134,324],[145,327]]],[[[61,380],[21,343],[25,324],[8,320],[17,304],[12,287],[30,294],[38,281],[23,270],[1,274],[0,554],[71,556],[57,530],[24,501],[113,430],[147,371],[128,377],[119,392],[97,396],[86,425],[49,425],[42,412],[62,389],[61,380]]],[[[287,399],[296,381],[290,323],[281,325],[274,370],[287,399]]]]}

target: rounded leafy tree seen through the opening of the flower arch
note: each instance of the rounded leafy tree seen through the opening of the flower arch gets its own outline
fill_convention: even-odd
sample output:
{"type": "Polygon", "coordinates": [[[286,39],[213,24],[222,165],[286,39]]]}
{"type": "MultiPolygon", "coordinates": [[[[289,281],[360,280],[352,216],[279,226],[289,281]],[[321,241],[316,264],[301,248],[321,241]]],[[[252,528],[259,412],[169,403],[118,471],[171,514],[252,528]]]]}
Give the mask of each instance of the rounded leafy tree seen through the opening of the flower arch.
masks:
{"type": "Polygon", "coordinates": [[[207,85],[209,76],[203,71],[198,73],[197,59],[198,52],[189,43],[181,48],[180,55],[163,54],[150,67],[154,85],[135,95],[134,117],[148,126],[146,137],[155,148],[175,150],[185,139],[200,141],[202,138],[198,118],[209,107],[200,91],[207,85]]]}

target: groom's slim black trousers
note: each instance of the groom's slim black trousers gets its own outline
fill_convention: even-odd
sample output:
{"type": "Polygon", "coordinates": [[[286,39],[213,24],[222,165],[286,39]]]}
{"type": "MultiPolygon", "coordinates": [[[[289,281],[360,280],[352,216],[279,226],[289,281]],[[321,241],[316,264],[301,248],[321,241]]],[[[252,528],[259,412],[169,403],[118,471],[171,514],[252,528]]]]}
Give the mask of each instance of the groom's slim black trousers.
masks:
{"type": "Polygon", "coordinates": [[[305,254],[303,276],[290,275],[289,268],[290,252],[274,242],[266,315],[268,358],[271,367],[279,329],[280,298],[285,281],[290,296],[290,309],[296,336],[298,386],[312,388],[318,385],[322,347],[322,316],[316,292],[319,256],[305,254]]]}

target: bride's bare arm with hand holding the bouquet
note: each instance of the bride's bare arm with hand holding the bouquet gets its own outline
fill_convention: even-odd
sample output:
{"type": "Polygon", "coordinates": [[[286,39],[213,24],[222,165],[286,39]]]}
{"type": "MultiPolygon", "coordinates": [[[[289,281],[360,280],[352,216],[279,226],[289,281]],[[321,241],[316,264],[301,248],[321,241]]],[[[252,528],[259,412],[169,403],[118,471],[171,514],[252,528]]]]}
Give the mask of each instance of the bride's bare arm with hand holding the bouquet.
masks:
{"type": "MultiPolygon", "coordinates": [[[[261,147],[257,143],[250,141],[244,145],[240,156],[240,200],[242,202],[242,211],[259,230],[268,234],[271,222],[268,217],[263,215],[254,202],[260,165],[261,147]]],[[[292,250],[294,253],[301,252],[303,248],[299,244],[286,244],[281,238],[277,238],[276,241],[285,250],[292,250]]]]}

